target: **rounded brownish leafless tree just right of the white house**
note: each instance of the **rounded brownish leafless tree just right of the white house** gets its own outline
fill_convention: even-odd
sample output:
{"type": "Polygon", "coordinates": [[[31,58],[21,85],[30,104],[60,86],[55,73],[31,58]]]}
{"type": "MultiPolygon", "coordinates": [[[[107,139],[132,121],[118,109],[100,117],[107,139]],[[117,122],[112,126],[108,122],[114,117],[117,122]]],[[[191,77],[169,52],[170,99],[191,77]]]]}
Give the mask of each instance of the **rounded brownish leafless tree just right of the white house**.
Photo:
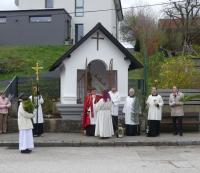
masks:
{"type": "Polygon", "coordinates": [[[160,46],[161,35],[156,17],[150,9],[127,11],[121,24],[121,34],[123,40],[131,44],[138,40],[140,50],[142,53],[146,51],[148,55],[152,55],[160,46]]]}

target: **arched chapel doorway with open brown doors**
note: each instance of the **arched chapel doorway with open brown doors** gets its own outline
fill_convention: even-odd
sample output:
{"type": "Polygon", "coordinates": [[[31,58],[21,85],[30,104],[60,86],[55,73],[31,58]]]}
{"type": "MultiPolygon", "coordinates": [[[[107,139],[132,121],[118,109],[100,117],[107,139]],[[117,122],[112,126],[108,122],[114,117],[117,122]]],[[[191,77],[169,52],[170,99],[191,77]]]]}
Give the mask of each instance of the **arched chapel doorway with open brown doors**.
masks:
{"type": "Polygon", "coordinates": [[[113,70],[113,60],[107,65],[102,60],[85,62],[84,70],[77,70],[77,103],[83,103],[87,92],[93,87],[100,94],[104,89],[117,87],[117,70],[113,70]]]}

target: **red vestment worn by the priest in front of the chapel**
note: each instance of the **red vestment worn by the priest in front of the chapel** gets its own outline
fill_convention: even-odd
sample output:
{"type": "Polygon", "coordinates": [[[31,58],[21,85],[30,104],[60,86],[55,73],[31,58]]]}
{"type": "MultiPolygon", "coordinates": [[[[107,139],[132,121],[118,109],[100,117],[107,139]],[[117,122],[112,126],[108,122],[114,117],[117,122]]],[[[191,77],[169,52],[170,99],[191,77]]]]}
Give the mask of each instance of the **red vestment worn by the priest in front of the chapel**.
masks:
{"type": "MultiPolygon", "coordinates": [[[[102,96],[96,95],[94,104],[96,104],[102,96]]],[[[94,108],[93,108],[93,100],[92,95],[86,96],[84,100],[84,107],[82,113],[82,128],[85,129],[88,125],[90,125],[90,113],[88,110],[91,110],[91,116],[94,116],[94,108]]]]}

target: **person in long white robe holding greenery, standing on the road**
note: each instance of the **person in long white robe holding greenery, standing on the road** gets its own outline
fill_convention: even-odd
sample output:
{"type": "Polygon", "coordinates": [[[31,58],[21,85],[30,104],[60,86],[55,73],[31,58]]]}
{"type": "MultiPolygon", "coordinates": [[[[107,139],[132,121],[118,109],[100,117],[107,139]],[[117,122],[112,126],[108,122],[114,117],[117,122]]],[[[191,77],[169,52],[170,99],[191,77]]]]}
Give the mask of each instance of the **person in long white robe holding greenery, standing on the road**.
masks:
{"type": "MultiPolygon", "coordinates": [[[[29,98],[23,96],[22,100],[18,108],[19,150],[21,153],[30,153],[34,148],[33,123],[31,121],[34,114],[25,111],[25,102],[27,100],[30,102],[29,98]]],[[[30,102],[30,104],[32,103],[30,102]]],[[[32,107],[32,111],[33,109],[32,107]]]]}

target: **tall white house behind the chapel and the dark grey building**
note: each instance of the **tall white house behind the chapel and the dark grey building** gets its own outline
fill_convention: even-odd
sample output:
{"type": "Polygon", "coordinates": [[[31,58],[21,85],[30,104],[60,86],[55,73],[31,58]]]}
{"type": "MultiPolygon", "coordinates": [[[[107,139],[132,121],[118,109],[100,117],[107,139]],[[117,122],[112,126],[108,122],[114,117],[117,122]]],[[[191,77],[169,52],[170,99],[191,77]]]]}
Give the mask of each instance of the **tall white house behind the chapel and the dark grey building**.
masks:
{"type": "Polygon", "coordinates": [[[123,20],[120,0],[15,0],[19,10],[64,8],[72,17],[71,38],[78,42],[98,22],[118,39],[123,20]]]}

